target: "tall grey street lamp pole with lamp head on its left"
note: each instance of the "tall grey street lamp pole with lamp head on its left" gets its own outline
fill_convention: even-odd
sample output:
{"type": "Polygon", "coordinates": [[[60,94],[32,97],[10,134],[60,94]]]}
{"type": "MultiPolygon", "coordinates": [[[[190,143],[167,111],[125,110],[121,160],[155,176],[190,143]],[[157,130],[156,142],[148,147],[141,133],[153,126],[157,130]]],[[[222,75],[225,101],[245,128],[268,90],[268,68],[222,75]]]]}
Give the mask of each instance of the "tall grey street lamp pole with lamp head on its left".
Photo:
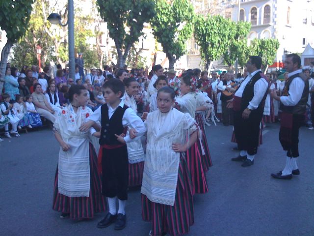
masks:
{"type": "Polygon", "coordinates": [[[61,24],[61,16],[57,13],[51,13],[47,20],[54,25],[69,27],[69,78],[75,79],[75,57],[74,57],[74,4],[73,0],[68,0],[68,22],[61,24]]]}

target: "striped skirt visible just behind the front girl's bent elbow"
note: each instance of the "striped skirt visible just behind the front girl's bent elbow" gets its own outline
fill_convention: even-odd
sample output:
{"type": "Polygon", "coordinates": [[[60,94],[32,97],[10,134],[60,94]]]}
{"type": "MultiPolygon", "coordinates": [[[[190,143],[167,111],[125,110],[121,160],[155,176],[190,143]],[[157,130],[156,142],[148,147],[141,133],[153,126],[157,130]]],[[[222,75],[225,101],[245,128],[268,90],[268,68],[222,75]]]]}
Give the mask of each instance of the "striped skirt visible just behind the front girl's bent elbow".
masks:
{"type": "Polygon", "coordinates": [[[187,168],[191,175],[193,195],[207,193],[207,179],[200,154],[200,142],[196,142],[186,151],[187,168]]]}

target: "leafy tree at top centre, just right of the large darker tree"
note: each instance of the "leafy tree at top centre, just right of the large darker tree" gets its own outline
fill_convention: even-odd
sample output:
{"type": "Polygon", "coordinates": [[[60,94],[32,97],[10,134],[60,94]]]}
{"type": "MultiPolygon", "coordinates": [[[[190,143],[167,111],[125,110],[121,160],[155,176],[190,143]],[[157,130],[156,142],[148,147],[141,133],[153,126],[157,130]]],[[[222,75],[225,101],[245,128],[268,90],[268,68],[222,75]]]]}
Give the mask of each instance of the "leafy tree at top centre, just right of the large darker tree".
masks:
{"type": "Polygon", "coordinates": [[[153,34],[169,60],[169,69],[185,54],[186,41],[192,36],[193,5],[189,0],[157,0],[156,15],[151,20],[153,34]]]}

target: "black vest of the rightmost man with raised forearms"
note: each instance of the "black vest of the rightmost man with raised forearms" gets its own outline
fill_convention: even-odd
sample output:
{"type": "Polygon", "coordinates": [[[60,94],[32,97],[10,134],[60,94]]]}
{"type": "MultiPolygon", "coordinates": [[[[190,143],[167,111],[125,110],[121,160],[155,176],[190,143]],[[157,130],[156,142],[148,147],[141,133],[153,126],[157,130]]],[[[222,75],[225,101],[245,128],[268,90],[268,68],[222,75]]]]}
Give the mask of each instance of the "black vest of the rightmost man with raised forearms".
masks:
{"type": "Polygon", "coordinates": [[[280,103],[280,110],[282,110],[283,112],[290,113],[290,114],[304,115],[306,111],[306,104],[309,99],[309,80],[305,77],[303,73],[297,73],[288,78],[288,80],[285,83],[283,94],[284,96],[289,95],[288,91],[290,88],[290,84],[292,80],[294,80],[296,77],[300,77],[305,82],[301,99],[295,106],[285,106],[283,103],[280,103]]]}

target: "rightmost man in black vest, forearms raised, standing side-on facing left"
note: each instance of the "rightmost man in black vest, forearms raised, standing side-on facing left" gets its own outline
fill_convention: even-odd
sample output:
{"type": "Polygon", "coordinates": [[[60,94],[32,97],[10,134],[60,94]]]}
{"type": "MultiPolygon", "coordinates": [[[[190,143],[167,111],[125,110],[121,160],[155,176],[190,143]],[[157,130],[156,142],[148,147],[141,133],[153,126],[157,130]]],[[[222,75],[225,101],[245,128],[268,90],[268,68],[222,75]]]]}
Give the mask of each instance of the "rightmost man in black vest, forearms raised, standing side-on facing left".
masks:
{"type": "Polygon", "coordinates": [[[288,80],[282,96],[276,91],[270,93],[271,97],[280,101],[282,110],[279,141],[287,151],[286,166],[272,177],[278,179],[291,179],[292,175],[299,175],[296,158],[299,156],[299,129],[304,122],[304,114],[309,96],[309,80],[302,73],[301,59],[296,54],[286,56],[285,67],[288,71],[288,80]]]}

